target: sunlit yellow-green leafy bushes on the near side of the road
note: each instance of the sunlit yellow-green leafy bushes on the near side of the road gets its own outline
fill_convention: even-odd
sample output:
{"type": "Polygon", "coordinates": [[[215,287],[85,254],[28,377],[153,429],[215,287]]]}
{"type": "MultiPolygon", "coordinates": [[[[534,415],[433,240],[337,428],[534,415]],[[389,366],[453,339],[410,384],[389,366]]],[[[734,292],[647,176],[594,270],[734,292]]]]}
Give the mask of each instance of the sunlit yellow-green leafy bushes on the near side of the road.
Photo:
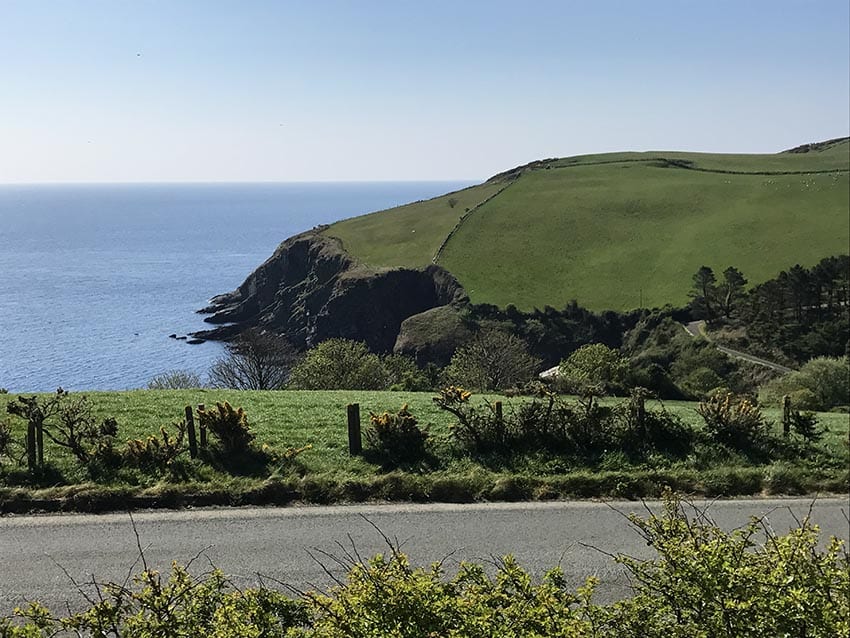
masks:
{"type": "MultiPolygon", "coordinates": [[[[240,590],[219,571],[193,577],[179,566],[132,586],[99,587],[90,609],[54,617],[33,603],[0,621],[0,636],[242,638],[846,636],[850,560],[842,544],[821,545],[808,520],[785,536],[753,520],[727,533],[704,512],[688,518],[674,499],[659,515],[631,517],[652,560],[618,555],[632,595],[602,605],[598,579],[571,591],[560,568],[535,581],[510,556],[493,570],[461,564],[413,568],[397,547],[366,562],[337,558],[348,577],[298,599],[268,588],[240,590]]],[[[604,549],[604,548],[601,548],[604,549]]],[[[356,554],[356,552],[355,552],[356,554]]]]}

